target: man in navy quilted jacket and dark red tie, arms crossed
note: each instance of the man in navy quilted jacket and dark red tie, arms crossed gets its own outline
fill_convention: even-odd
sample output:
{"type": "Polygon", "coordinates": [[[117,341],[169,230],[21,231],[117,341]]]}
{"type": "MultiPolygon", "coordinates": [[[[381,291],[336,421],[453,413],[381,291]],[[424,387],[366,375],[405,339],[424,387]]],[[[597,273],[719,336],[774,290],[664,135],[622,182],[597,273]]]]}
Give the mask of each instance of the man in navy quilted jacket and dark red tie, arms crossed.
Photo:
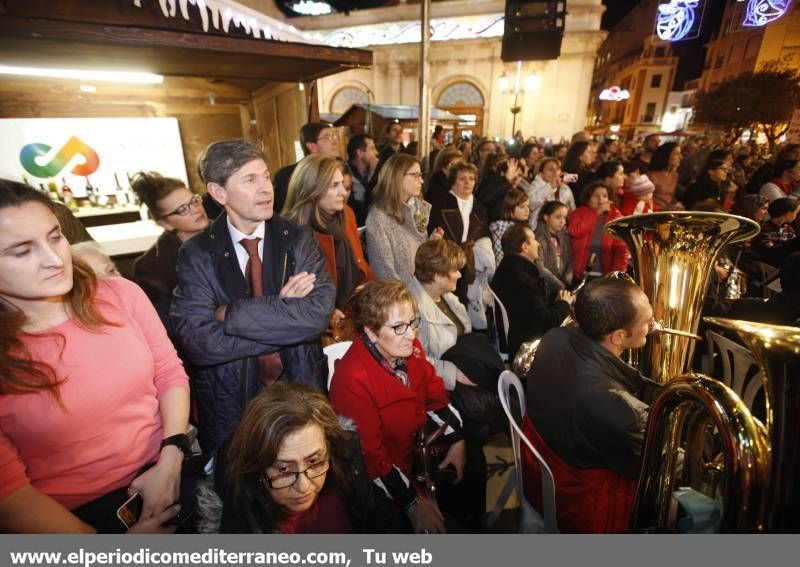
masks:
{"type": "Polygon", "coordinates": [[[325,390],[319,337],[335,288],[311,230],[273,214],[272,182],[258,147],[215,142],[199,170],[225,213],[181,248],[170,317],[181,354],[195,367],[200,441],[213,450],[233,432],[247,402],[274,380],[325,390]],[[259,264],[260,271],[250,269],[259,264]]]}

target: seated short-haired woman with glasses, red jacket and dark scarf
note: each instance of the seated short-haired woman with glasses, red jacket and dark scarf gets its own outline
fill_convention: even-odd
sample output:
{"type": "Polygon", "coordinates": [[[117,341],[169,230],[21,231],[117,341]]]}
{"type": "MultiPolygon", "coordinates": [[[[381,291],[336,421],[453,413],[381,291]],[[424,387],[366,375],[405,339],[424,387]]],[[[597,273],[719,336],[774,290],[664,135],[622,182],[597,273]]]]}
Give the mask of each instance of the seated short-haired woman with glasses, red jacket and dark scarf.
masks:
{"type": "MultiPolygon", "coordinates": [[[[397,280],[364,286],[354,301],[356,336],[336,364],[330,399],[355,421],[367,474],[406,513],[414,531],[445,532],[443,512],[475,528],[486,509],[485,460],[463,439],[442,379],[416,338],[414,296],[397,280]],[[447,447],[433,464],[436,498],[412,473],[415,440],[426,428],[447,447]]],[[[444,447],[443,447],[444,448],[444,447]]]]}

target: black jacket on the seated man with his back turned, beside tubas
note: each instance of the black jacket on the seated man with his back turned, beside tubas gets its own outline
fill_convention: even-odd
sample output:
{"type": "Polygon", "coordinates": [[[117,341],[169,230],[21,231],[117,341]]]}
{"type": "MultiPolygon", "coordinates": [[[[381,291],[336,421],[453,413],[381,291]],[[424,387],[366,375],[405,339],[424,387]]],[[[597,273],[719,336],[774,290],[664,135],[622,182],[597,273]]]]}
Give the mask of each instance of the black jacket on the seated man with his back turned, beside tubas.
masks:
{"type": "Polygon", "coordinates": [[[531,421],[567,464],[638,476],[658,384],[577,327],[544,335],[527,381],[531,421]]]}

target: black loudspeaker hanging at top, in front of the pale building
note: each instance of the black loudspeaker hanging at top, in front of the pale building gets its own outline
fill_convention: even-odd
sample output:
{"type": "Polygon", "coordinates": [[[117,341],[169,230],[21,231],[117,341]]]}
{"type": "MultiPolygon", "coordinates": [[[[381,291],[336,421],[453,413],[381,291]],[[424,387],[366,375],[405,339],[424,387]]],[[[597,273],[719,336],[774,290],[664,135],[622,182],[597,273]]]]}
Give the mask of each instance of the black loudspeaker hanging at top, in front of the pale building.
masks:
{"type": "Polygon", "coordinates": [[[506,0],[503,61],[557,59],[566,0],[506,0]]]}

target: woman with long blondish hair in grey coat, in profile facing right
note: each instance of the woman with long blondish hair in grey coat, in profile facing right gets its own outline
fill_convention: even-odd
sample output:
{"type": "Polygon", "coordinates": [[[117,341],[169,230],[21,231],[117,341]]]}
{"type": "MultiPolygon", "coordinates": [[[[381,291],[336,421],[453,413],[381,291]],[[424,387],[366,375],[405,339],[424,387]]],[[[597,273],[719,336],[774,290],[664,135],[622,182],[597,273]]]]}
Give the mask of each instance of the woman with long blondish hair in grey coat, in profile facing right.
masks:
{"type": "MultiPolygon", "coordinates": [[[[422,199],[422,168],[413,156],[396,154],[381,168],[367,213],[367,254],[379,278],[402,282],[414,276],[414,255],[428,239],[431,206],[422,199]]],[[[436,229],[431,238],[441,238],[436,229]]]]}

